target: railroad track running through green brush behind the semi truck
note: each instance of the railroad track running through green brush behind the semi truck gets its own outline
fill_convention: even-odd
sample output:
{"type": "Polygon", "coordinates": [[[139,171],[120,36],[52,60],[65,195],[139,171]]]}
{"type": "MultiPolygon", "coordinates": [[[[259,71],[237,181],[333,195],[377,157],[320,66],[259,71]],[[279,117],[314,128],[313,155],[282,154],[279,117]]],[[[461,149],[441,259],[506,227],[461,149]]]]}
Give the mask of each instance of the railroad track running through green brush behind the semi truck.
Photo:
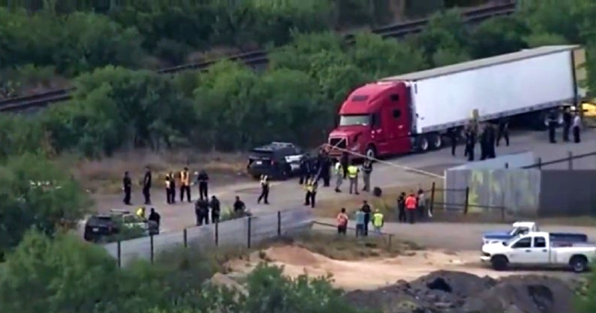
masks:
{"type": "MultiPolygon", "coordinates": [[[[487,20],[495,16],[505,16],[514,12],[515,3],[493,5],[491,7],[480,7],[462,13],[465,23],[474,24],[487,20]]],[[[372,32],[383,36],[384,38],[401,38],[406,35],[418,33],[424,29],[428,23],[427,19],[408,21],[406,23],[393,24],[389,26],[373,29],[372,32]]],[[[353,42],[353,35],[346,35],[346,41],[353,42]]],[[[259,50],[246,52],[243,54],[228,57],[229,60],[242,61],[249,66],[262,66],[268,63],[267,51],[259,50]]],[[[180,66],[169,67],[158,70],[160,74],[172,74],[183,70],[202,70],[209,67],[218,60],[206,61],[201,63],[182,64],[180,66]]],[[[46,106],[50,103],[66,101],[70,99],[70,92],[74,88],[55,89],[41,94],[27,95],[23,97],[8,98],[0,101],[0,111],[20,111],[30,107],[46,106]]]]}

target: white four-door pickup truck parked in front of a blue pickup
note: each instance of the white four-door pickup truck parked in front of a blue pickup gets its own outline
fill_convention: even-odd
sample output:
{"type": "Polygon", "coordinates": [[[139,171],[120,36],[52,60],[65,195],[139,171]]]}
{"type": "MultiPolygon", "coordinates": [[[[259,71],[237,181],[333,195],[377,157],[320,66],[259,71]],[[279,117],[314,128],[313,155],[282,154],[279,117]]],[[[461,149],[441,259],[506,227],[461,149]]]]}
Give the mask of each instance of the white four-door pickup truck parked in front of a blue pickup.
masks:
{"type": "Polygon", "coordinates": [[[595,256],[595,244],[558,240],[550,233],[530,232],[507,242],[484,244],[480,261],[491,262],[497,271],[513,265],[572,268],[574,272],[583,272],[595,256]]]}

